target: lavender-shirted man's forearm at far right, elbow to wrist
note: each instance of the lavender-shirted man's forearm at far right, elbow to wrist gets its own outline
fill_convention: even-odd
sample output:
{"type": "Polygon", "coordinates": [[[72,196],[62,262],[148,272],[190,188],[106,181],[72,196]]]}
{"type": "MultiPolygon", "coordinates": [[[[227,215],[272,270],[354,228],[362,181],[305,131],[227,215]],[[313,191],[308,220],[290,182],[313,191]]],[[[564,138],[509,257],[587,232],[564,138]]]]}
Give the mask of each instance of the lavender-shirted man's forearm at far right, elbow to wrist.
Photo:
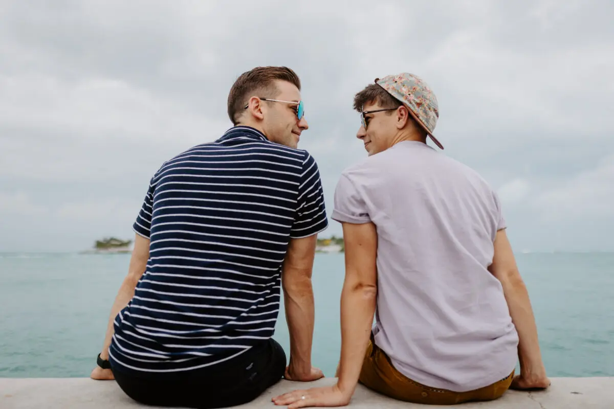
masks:
{"type": "Polygon", "coordinates": [[[537,338],[537,325],[529,300],[529,292],[522,278],[515,275],[502,280],[511,319],[518,332],[518,357],[521,370],[542,369],[542,354],[537,338]]]}

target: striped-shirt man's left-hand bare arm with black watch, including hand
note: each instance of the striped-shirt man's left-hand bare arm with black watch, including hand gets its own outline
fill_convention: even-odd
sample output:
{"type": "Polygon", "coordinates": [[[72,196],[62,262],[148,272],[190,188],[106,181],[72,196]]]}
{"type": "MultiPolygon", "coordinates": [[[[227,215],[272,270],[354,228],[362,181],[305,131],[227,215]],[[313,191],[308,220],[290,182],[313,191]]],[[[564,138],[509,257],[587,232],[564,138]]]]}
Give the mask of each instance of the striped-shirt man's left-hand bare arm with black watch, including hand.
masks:
{"type": "MultiPolygon", "coordinates": [[[[109,315],[109,323],[107,324],[107,332],[104,337],[103,350],[100,352],[102,359],[109,359],[109,346],[111,345],[111,338],[114,334],[114,322],[117,314],[128,305],[128,302],[134,296],[134,288],[136,288],[139,279],[145,272],[147,267],[147,260],[149,259],[149,239],[142,237],[139,234],[134,236],[134,248],[132,250],[132,256],[130,258],[130,266],[128,266],[128,274],[123,279],[122,286],[120,286],[115,302],[111,307],[111,314],[109,315]]],[[[102,369],[96,366],[90,375],[93,379],[107,380],[113,379],[113,375],[110,369],[102,369]]]]}

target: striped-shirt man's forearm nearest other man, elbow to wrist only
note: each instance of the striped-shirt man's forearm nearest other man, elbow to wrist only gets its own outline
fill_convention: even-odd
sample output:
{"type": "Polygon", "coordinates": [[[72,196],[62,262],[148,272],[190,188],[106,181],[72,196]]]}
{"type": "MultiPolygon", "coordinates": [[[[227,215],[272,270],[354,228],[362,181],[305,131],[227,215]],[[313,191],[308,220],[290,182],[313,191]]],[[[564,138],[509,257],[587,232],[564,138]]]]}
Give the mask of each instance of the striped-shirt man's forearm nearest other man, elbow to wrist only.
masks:
{"type": "Polygon", "coordinates": [[[311,279],[284,286],[286,322],[290,333],[290,363],[300,373],[311,372],[314,301],[311,279]]]}

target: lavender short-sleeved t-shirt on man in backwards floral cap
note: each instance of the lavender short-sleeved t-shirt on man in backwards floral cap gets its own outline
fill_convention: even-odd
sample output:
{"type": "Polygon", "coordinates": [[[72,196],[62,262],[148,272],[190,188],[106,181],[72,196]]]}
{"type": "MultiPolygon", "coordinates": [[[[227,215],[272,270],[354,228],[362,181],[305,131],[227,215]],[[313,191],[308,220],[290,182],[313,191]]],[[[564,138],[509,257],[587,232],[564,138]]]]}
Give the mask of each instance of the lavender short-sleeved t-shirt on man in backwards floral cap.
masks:
{"type": "Polygon", "coordinates": [[[406,377],[464,392],[507,377],[518,334],[488,271],[505,228],[475,171],[405,141],[344,170],[333,220],[378,232],[375,343],[406,377]]]}

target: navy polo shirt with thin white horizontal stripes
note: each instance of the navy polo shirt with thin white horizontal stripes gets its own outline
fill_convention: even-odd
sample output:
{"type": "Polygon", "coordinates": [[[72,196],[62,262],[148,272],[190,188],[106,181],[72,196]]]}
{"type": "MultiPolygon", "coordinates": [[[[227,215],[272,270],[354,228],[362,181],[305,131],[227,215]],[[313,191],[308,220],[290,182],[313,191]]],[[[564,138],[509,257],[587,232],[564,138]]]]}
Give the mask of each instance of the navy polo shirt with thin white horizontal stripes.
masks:
{"type": "Polygon", "coordinates": [[[115,318],[125,372],[178,372],[273,336],[290,238],[328,226],[316,161],[246,126],[177,155],[153,176],[134,231],[147,269],[115,318]]]}

